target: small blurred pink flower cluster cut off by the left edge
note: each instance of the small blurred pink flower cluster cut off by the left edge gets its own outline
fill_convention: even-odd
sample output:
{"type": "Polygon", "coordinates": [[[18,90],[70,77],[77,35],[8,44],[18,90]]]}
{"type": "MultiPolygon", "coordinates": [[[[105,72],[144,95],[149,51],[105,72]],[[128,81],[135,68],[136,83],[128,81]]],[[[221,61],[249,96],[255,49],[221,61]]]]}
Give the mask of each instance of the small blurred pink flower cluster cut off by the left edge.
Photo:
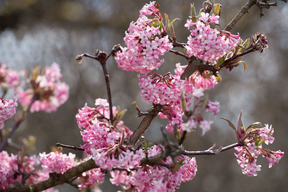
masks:
{"type": "Polygon", "coordinates": [[[8,69],[5,64],[0,63],[0,86],[11,88],[18,85],[20,85],[18,72],[8,69]]]}

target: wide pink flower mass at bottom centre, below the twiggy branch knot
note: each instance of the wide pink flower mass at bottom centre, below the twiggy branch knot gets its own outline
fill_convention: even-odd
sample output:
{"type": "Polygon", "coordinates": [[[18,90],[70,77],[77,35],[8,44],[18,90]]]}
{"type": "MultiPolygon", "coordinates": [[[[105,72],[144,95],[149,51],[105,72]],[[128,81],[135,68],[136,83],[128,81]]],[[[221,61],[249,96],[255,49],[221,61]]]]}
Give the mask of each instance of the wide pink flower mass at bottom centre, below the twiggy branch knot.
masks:
{"type": "MultiPolygon", "coordinates": [[[[148,157],[153,157],[161,152],[160,147],[154,146],[148,150],[148,157]]],[[[127,173],[126,171],[111,172],[111,183],[115,185],[133,186],[137,191],[175,191],[180,184],[192,180],[197,172],[195,158],[179,157],[183,161],[179,170],[172,172],[162,166],[142,165],[140,169],[127,173]]],[[[162,160],[172,164],[171,157],[162,160]]]]}

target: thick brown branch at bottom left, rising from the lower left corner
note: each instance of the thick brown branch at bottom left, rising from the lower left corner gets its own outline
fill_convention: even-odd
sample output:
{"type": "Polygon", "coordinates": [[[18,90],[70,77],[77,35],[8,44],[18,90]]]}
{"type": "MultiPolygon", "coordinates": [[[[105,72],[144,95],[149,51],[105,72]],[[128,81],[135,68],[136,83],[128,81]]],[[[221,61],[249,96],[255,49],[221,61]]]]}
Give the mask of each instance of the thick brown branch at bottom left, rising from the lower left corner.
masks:
{"type": "Polygon", "coordinates": [[[89,171],[90,169],[97,168],[95,161],[93,159],[89,159],[71,169],[67,170],[63,174],[57,174],[56,176],[52,176],[47,180],[41,181],[39,183],[31,184],[31,185],[20,185],[16,187],[11,187],[1,192],[30,192],[30,189],[33,189],[33,192],[43,191],[45,189],[54,187],[56,185],[61,185],[63,183],[69,183],[69,180],[75,176],[80,175],[83,172],[89,171]]]}

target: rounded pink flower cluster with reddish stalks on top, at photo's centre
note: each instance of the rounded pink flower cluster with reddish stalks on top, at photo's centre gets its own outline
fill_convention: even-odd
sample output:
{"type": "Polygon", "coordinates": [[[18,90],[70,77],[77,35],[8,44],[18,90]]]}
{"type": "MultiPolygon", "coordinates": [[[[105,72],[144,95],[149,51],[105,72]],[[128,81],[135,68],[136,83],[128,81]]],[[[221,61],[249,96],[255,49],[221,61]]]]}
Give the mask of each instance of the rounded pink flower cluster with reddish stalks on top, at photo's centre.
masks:
{"type": "Polygon", "coordinates": [[[161,76],[150,72],[138,77],[140,94],[145,101],[161,105],[181,103],[180,95],[185,88],[185,81],[180,76],[170,73],[161,76]]]}

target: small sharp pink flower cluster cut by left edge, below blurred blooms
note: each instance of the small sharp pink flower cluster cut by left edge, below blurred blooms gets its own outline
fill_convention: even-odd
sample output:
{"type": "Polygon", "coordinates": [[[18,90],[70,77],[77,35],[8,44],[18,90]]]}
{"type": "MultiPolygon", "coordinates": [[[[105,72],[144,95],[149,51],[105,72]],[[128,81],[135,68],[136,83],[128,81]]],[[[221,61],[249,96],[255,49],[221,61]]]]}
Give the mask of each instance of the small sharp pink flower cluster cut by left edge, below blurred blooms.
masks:
{"type": "Polygon", "coordinates": [[[16,113],[17,98],[6,100],[0,97],[0,130],[3,128],[4,121],[11,119],[16,113]]]}

